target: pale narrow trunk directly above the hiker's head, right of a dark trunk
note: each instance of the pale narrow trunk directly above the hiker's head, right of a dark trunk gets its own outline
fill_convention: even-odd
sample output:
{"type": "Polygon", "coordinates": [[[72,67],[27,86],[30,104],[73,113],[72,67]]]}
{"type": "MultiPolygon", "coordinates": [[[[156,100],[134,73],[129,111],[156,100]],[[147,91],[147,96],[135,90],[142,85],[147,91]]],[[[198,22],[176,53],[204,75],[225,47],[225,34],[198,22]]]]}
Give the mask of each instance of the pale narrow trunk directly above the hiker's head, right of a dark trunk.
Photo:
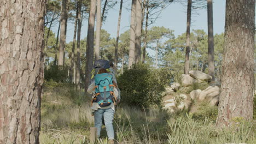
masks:
{"type": "Polygon", "coordinates": [[[96,39],[95,39],[95,61],[100,58],[100,39],[101,39],[101,0],[97,0],[96,14],[96,39]]]}

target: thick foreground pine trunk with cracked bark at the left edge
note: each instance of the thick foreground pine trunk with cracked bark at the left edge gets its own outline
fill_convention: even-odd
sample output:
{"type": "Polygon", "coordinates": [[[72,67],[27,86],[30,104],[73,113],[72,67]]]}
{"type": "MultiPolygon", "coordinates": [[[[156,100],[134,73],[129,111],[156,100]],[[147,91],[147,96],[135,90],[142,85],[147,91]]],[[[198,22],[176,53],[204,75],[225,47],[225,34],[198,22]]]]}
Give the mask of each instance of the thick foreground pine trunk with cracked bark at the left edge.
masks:
{"type": "Polygon", "coordinates": [[[39,143],[45,1],[0,5],[0,143],[39,143]]]}

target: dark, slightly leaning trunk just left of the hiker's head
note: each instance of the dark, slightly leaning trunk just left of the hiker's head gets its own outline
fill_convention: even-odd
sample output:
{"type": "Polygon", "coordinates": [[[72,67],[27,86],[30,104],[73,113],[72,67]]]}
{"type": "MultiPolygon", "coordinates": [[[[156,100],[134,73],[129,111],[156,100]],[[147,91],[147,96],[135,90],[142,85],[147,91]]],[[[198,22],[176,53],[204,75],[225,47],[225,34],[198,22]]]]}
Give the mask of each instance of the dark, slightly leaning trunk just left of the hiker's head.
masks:
{"type": "Polygon", "coordinates": [[[86,66],[85,66],[85,92],[91,82],[91,70],[94,62],[94,25],[95,25],[96,1],[91,0],[90,15],[88,23],[87,44],[86,44],[86,66]]]}

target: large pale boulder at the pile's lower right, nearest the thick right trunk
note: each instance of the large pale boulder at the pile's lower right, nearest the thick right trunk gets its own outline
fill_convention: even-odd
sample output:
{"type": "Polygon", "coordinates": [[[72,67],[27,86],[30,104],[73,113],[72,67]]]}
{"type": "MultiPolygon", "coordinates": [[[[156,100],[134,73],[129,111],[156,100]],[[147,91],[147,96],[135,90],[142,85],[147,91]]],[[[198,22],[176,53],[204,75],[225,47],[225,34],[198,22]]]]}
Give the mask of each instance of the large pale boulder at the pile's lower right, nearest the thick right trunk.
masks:
{"type": "Polygon", "coordinates": [[[210,101],[213,97],[219,94],[219,87],[217,86],[210,86],[207,87],[205,90],[200,92],[199,97],[197,98],[199,101],[207,100],[210,101]]]}

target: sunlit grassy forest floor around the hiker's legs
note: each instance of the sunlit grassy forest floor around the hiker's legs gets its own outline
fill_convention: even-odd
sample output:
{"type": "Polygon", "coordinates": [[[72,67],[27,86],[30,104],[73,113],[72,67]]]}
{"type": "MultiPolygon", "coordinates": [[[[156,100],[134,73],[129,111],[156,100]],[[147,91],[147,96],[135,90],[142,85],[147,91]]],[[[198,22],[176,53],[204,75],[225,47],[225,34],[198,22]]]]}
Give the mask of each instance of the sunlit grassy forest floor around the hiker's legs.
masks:
{"type": "MultiPolygon", "coordinates": [[[[40,143],[89,143],[94,127],[90,98],[73,88],[44,88],[41,107],[40,143]]],[[[114,116],[116,143],[256,143],[256,123],[234,119],[230,128],[215,126],[216,107],[202,111],[169,113],[119,105],[114,116]]],[[[97,143],[107,143],[106,128],[97,143]]]]}

